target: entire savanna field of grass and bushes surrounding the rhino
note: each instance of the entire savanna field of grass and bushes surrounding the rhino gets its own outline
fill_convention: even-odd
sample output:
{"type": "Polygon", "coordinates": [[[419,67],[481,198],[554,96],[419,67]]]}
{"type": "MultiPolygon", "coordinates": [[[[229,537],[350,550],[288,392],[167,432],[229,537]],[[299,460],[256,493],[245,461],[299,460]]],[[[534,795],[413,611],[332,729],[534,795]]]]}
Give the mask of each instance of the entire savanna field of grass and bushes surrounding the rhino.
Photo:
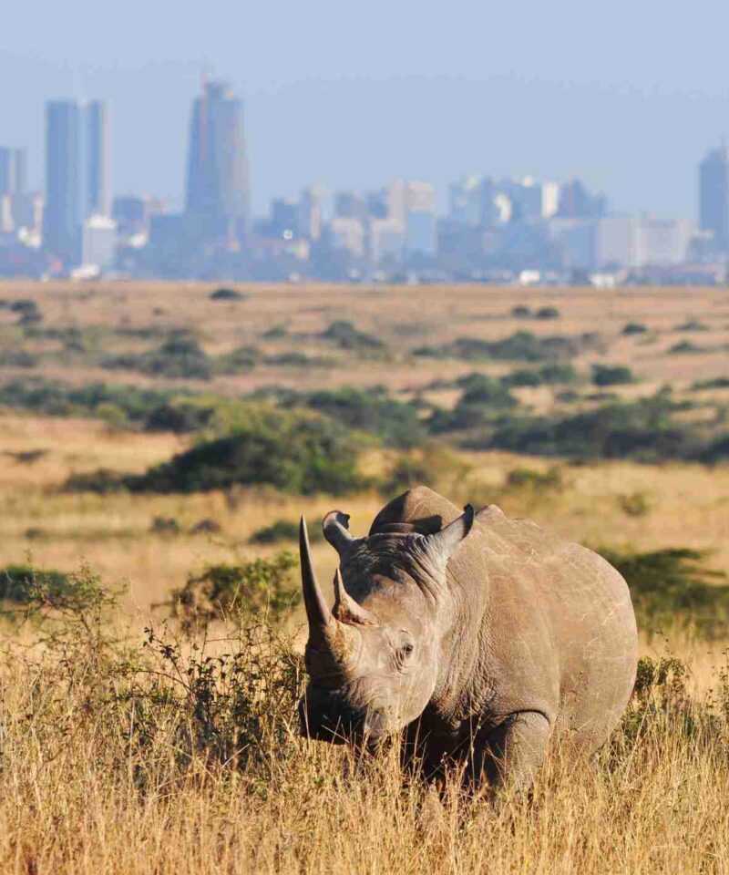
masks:
{"type": "Polygon", "coordinates": [[[729,872],[728,412],[723,289],[0,285],[0,871],[729,872]],[[631,587],[611,743],[498,808],[298,736],[297,521],[331,599],[420,483],[631,587]]]}

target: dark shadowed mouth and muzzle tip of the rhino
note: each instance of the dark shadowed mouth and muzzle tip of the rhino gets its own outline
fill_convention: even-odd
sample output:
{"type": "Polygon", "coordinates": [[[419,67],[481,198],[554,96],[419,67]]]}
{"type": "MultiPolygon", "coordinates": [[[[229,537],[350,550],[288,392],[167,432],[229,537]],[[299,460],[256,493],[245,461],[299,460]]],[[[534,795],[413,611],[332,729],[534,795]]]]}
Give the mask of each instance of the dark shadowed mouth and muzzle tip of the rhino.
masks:
{"type": "Polygon", "coordinates": [[[299,729],[304,738],[343,745],[386,734],[376,713],[350,705],[336,690],[310,684],[299,702],[299,729]]]}

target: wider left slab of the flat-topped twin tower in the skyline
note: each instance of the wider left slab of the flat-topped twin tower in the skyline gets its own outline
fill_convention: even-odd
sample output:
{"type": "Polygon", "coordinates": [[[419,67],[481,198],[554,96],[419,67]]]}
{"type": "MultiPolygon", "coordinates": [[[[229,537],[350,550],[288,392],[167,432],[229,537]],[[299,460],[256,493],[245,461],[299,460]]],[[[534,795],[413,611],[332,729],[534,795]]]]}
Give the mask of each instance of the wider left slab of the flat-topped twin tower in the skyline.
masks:
{"type": "Polygon", "coordinates": [[[77,263],[82,202],[82,110],[76,100],[46,103],[46,210],[43,242],[66,266],[77,263]]]}

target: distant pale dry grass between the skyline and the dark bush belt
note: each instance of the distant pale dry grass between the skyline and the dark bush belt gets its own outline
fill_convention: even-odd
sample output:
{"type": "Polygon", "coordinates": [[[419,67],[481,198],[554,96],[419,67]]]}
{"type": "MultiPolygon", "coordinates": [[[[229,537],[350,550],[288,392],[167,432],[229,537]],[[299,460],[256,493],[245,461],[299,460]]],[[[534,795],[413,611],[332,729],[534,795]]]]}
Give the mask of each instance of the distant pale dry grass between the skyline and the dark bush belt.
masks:
{"type": "MultiPolygon", "coordinates": [[[[246,289],[249,300],[210,302],[216,286],[205,283],[0,283],[0,300],[33,298],[44,314],[43,325],[91,326],[104,330],[105,353],[139,350],[154,345],[151,340],[118,335],[129,329],[164,332],[186,328],[200,336],[211,354],[228,352],[240,345],[256,345],[267,354],[304,351],[334,359],[335,367],[293,368],[258,365],[239,376],[218,376],[211,383],[187,381],[188,385],[213,386],[226,394],[242,394],[262,386],[297,389],[339,386],[388,386],[407,391],[426,386],[433,379],[455,379],[472,370],[502,373],[504,365],[472,365],[457,361],[415,360],[409,353],[416,346],[447,343],[456,337],[497,339],[528,330],[538,335],[579,335],[594,332],[604,339],[606,352],[580,355],[575,365],[588,371],[594,362],[630,365],[641,377],[639,391],[650,392],[664,383],[686,386],[694,380],[726,376],[726,345],[729,343],[729,297],[722,289],[662,289],[598,291],[594,289],[528,290],[484,286],[393,286],[346,287],[310,284],[255,285],[246,289]],[[557,307],[560,318],[516,319],[517,305],[532,310],[557,307]],[[313,335],[335,319],[352,321],[357,328],[385,341],[383,361],[361,366],[356,355],[344,353],[313,335]],[[687,333],[677,330],[696,320],[710,330],[687,333]],[[625,324],[638,322],[648,335],[625,337],[625,324]],[[272,325],[282,324],[289,336],[262,338],[272,325]],[[676,343],[691,340],[708,346],[705,353],[671,355],[676,343]]],[[[0,329],[15,322],[15,314],[0,310],[0,329]]],[[[83,355],[59,356],[56,342],[38,341],[38,349],[56,349],[36,368],[17,370],[17,376],[37,374],[63,377],[69,382],[89,380],[149,385],[150,377],[131,372],[108,372],[90,366],[83,355]]],[[[11,369],[5,369],[10,374],[11,369]]],[[[164,385],[159,379],[156,385],[164,385]]],[[[167,385],[179,386],[180,381],[167,385]]],[[[621,390],[623,391],[623,390],[621,390]]],[[[635,389],[625,390],[626,394],[635,389]]]]}

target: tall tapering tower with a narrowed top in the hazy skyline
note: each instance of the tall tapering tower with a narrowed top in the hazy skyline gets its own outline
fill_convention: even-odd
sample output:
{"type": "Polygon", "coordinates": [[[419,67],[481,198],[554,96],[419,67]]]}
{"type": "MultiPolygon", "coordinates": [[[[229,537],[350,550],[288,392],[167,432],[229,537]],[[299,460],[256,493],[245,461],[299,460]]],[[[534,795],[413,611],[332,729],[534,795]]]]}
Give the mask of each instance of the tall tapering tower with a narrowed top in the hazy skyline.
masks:
{"type": "Polygon", "coordinates": [[[242,101],[226,83],[205,81],[192,104],[186,211],[210,239],[237,242],[249,201],[242,101]]]}

